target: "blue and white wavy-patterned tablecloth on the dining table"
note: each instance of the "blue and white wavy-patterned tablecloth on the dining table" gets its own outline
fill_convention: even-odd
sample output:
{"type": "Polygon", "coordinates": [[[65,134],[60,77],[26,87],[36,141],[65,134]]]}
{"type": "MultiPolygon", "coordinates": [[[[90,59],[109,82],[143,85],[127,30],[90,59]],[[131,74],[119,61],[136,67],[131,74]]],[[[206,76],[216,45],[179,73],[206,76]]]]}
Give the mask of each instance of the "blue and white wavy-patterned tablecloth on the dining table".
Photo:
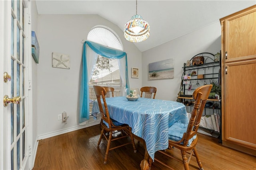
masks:
{"type": "MultiPolygon", "coordinates": [[[[144,139],[153,160],[157,150],[168,148],[168,127],[176,121],[188,123],[186,107],[179,102],[148,98],[128,101],[121,96],[106,98],[106,103],[112,119],[128,124],[134,135],[144,139]]],[[[97,100],[92,112],[99,112],[97,100]]]]}

